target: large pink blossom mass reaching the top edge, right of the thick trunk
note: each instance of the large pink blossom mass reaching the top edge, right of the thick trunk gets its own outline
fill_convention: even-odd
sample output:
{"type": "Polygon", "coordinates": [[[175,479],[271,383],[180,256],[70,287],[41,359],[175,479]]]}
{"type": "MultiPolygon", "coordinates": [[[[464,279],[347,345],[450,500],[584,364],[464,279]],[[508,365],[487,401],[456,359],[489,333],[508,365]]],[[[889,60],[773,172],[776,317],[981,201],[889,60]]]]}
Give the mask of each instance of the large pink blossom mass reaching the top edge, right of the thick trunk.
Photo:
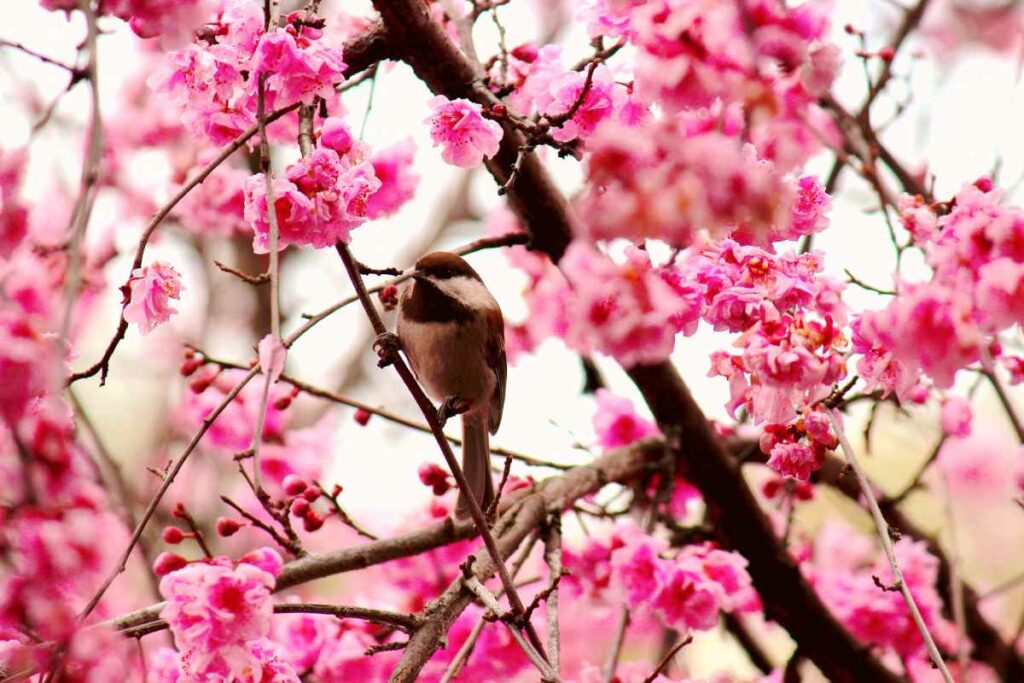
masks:
{"type": "Polygon", "coordinates": [[[823,227],[791,216],[811,188],[787,177],[835,140],[815,101],[839,69],[823,3],[587,5],[592,35],[636,46],[638,100],[665,111],[637,104],[596,127],[581,202],[592,238],[686,246],[698,230],[738,231],[766,244],[823,227]]]}

